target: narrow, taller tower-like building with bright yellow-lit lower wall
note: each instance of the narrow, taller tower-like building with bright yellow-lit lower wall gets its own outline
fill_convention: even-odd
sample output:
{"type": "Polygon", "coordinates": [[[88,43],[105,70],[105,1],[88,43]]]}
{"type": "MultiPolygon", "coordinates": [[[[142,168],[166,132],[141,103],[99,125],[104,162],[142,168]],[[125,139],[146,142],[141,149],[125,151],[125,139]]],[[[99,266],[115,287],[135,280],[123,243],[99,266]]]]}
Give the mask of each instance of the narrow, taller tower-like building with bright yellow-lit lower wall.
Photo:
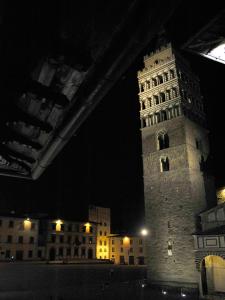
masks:
{"type": "Polygon", "coordinates": [[[90,206],[89,221],[97,226],[96,257],[109,259],[109,235],[110,235],[110,208],[90,206]]]}

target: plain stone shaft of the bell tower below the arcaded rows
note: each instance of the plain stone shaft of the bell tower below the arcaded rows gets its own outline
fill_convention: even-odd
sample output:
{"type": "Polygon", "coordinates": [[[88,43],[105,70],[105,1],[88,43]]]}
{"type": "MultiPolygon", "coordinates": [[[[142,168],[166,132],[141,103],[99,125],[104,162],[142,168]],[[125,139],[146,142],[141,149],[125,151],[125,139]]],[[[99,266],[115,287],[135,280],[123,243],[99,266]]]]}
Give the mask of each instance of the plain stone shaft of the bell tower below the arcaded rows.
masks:
{"type": "Polygon", "coordinates": [[[142,129],[142,139],[146,222],[150,229],[148,278],[150,282],[197,287],[192,234],[198,213],[206,209],[199,165],[201,155],[208,155],[206,131],[180,116],[142,129]],[[169,136],[169,148],[157,150],[157,133],[161,130],[169,136]],[[195,136],[202,139],[204,151],[196,149],[195,136]],[[169,171],[160,170],[162,156],[169,158],[169,171]]]}

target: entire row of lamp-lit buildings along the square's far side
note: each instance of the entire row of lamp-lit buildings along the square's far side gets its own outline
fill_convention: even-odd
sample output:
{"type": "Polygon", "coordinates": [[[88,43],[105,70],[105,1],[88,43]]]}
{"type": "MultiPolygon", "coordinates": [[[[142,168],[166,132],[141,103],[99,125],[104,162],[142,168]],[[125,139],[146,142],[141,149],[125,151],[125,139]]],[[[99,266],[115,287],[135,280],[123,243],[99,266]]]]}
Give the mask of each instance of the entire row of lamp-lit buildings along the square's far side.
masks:
{"type": "Polygon", "coordinates": [[[87,222],[0,216],[0,260],[12,259],[144,264],[145,239],[111,234],[110,208],[93,205],[87,222]]]}

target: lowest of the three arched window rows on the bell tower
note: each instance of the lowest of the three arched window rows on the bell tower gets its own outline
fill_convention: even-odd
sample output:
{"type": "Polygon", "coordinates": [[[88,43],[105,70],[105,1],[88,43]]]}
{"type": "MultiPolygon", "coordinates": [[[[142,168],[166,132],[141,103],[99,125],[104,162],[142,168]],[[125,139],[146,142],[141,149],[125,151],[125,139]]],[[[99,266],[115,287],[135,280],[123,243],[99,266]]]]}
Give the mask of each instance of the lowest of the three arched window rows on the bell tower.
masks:
{"type": "Polygon", "coordinates": [[[159,112],[152,113],[148,116],[143,116],[141,118],[141,126],[149,127],[155,124],[158,124],[163,121],[167,121],[170,119],[173,119],[175,117],[178,117],[181,115],[181,110],[179,105],[174,105],[170,108],[167,108],[165,110],[161,110],[159,112]]]}

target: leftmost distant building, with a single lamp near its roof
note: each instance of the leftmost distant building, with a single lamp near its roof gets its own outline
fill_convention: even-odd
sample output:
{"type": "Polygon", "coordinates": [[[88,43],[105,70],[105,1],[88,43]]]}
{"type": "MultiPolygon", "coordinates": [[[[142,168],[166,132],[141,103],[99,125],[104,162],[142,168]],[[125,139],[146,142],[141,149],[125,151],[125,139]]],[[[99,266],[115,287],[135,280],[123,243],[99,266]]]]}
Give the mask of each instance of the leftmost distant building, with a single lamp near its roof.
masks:
{"type": "Polygon", "coordinates": [[[36,219],[0,216],[0,260],[37,259],[36,219]]]}

